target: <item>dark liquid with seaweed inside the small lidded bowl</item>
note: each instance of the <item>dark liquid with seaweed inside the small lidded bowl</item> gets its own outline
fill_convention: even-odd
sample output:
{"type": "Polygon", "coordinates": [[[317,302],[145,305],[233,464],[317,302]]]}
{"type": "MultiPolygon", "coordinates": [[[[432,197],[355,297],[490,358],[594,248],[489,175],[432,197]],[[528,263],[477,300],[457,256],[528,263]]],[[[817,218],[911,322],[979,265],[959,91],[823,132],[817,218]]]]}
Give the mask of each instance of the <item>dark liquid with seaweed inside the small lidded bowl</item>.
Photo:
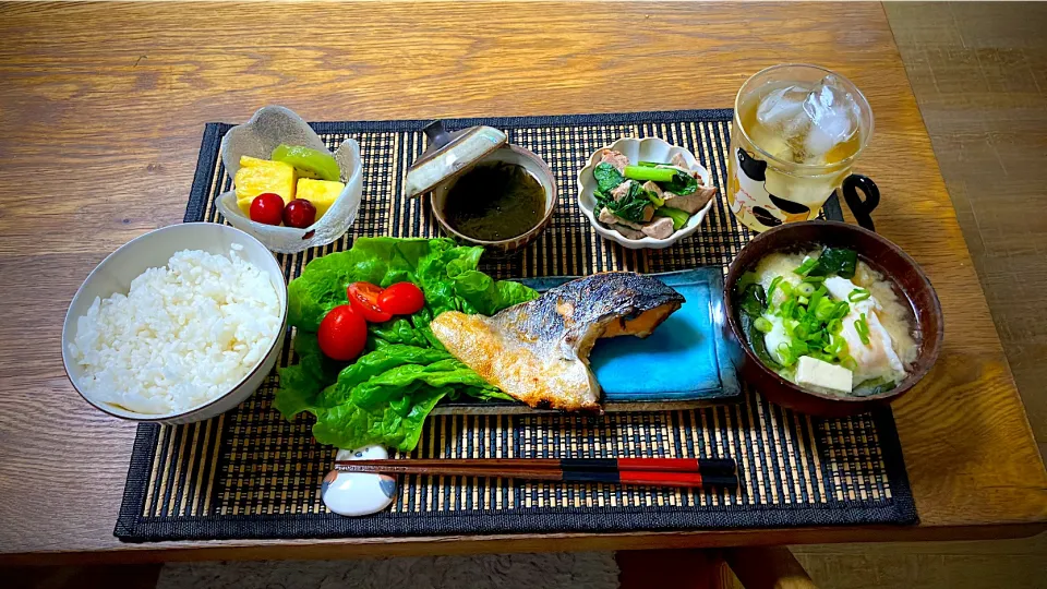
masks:
{"type": "Polygon", "coordinates": [[[444,205],[447,225],[482,241],[522,236],[545,217],[545,189],[522,166],[480,164],[455,182],[444,205]]]}

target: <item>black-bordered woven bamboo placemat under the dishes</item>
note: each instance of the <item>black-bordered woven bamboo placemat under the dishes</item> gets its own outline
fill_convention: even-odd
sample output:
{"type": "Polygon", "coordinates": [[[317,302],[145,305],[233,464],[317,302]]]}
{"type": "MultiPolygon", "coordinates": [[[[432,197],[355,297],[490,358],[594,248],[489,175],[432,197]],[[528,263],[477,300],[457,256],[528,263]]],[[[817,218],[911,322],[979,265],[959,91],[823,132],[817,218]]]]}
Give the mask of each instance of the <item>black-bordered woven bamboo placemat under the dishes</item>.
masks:
{"type": "MultiPolygon", "coordinates": [[[[450,129],[482,123],[505,130],[510,142],[549,163],[561,187],[549,229],[521,254],[484,269],[512,278],[725,267],[749,235],[722,196],[693,237],[666,250],[630,251],[591,230],[575,203],[575,173],[617,137],[659,136],[691,149],[722,187],[731,117],[730,110],[689,110],[446,121],[450,129]]],[[[424,122],[313,123],[329,147],[349,136],[360,142],[363,205],[340,241],[278,256],[287,279],[310,260],[348,249],[356,237],[437,235],[425,201],[401,197],[404,173],[424,149],[424,122]]],[[[218,144],[230,127],[205,128],[185,221],[221,223],[214,200],[231,180],[218,144]]],[[[842,218],[835,199],[825,214],[842,218]]],[[[289,356],[287,338],[281,365],[289,356]]],[[[437,416],[411,454],[729,456],[738,461],[736,492],[408,476],[390,509],[345,518],[327,512],[320,496],[335,449],[312,438],[311,420],[288,422],[273,409],[275,384],[274,375],[237,409],[209,421],[140,425],[115,534],[148,542],[916,522],[889,409],[817,419],[770,405],[753,390],[741,402],[686,411],[437,416]]]]}

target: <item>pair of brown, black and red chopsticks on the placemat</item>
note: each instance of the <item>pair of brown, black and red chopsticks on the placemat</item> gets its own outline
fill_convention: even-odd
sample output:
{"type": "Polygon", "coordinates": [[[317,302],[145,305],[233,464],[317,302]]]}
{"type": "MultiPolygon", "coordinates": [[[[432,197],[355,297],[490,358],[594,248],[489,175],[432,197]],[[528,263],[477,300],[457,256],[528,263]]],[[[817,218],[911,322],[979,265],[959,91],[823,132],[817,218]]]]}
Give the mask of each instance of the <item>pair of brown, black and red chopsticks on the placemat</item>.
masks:
{"type": "Polygon", "coordinates": [[[335,460],[335,470],[699,489],[738,485],[737,465],[732,458],[335,460]]]}

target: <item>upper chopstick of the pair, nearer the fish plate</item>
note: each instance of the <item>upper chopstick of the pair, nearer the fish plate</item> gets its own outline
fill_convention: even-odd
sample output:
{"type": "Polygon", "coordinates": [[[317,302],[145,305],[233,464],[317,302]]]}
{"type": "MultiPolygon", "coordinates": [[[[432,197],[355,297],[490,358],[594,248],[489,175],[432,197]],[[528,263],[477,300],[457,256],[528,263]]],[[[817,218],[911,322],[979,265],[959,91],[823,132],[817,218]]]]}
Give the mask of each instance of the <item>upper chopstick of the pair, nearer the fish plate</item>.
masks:
{"type": "Polygon", "coordinates": [[[701,474],[734,474],[737,464],[733,458],[449,458],[418,460],[335,460],[335,465],[410,465],[412,467],[443,468],[513,468],[524,470],[552,469],[563,471],[660,471],[699,472],[701,474]]]}

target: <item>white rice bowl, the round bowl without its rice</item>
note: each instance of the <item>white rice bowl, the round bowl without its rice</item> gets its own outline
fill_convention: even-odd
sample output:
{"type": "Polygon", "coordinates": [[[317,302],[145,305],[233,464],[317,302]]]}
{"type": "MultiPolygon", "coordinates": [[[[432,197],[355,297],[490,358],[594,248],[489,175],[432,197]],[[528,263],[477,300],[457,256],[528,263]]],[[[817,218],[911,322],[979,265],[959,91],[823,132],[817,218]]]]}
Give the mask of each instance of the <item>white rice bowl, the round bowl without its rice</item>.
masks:
{"type": "Polygon", "coordinates": [[[62,363],[65,364],[65,374],[73,384],[73,388],[87,402],[110,416],[167,424],[191,423],[224,413],[257,390],[262,381],[273,371],[273,366],[276,364],[280,348],[284,346],[286,330],[287,284],[284,281],[284,272],[280,269],[280,265],[276,263],[276,259],[264,244],[248,233],[225,225],[214,223],[171,225],[149,231],[124,243],[103,260],[87,276],[65,313],[65,323],[62,325],[62,363]],[[87,313],[95,298],[106,298],[115,292],[128,292],[131,289],[131,280],[147,268],[166,266],[174,252],[203,250],[210,254],[229,255],[229,250],[233,243],[243,247],[239,255],[269,275],[273,288],[276,289],[280,300],[280,330],[263,357],[262,362],[231,390],[188,411],[165,414],[137,413],[93,399],[86,394],[81,385],[81,382],[85,378],[83,368],[70,358],[69,344],[72,341],[76,329],[76,320],[87,313]]]}

